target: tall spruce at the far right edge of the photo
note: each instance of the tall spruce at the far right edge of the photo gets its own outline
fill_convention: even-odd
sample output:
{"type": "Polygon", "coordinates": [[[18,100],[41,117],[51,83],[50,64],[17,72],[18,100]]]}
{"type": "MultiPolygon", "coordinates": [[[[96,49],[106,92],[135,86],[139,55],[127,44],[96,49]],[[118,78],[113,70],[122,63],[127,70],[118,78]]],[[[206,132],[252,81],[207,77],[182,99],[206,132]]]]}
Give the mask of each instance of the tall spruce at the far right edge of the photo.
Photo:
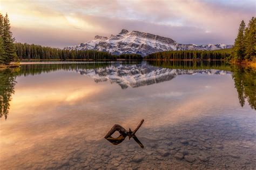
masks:
{"type": "Polygon", "coordinates": [[[253,60],[255,58],[255,24],[256,18],[252,17],[245,30],[245,59],[253,60]]]}

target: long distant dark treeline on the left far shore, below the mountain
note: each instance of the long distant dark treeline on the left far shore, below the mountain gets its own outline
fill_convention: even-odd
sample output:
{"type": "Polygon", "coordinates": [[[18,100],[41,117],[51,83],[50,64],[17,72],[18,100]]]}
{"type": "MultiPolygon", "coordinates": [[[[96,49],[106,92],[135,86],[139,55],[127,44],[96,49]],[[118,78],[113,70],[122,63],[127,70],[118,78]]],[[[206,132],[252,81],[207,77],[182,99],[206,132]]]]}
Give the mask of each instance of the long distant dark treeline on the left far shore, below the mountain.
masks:
{"type": "Polygon", "coordinates": [[[90,59],[90,60],[116,60],[116,59],[143,59],[136,54],[111,55],[109,52],[95,50],[61,50],[48,46],[27,43],[16,43],[16,52],[19,59],[90,59]]]}

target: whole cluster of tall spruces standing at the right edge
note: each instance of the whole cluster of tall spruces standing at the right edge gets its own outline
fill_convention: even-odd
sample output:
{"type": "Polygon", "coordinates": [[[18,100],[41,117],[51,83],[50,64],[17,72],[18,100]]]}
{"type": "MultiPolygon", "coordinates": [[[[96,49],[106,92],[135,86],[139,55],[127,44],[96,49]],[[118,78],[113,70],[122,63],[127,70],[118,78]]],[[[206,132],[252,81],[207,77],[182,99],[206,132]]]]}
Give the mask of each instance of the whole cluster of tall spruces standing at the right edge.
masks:
{"type": "Polygon", "coordinates": [[[242,62],[243,60],[256,60],[255,25],[255,17],[252,17],[247,28],[245,27],[245,22],[241,22],[237,38],[234,42],[234,55],[232,56],[232,59],[235,61],[242,62]]]}

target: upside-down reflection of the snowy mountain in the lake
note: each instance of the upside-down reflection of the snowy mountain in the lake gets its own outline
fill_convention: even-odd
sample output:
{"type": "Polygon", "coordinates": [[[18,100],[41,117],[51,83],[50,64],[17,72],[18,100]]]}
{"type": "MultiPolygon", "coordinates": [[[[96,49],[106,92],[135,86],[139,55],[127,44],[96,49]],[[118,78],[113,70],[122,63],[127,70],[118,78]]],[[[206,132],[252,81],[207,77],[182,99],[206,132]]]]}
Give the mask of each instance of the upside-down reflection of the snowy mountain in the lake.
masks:
{"type": "Polygon", "coordinates": [[[78,69],[76,70],[76,72],[79,72],[80,74],[85,75],[87,77],[93,78],[96,83],[102,81],[110,81],[111,83],[117,83],[122,87],[122,89],[126,89],[127,87],[139,87],[160,83],[163,81],[169,81],[180,74],[231,74],[231,72],[221,70],[166,69],[147,64],[118,64],[99,69],[78,69]]]}

